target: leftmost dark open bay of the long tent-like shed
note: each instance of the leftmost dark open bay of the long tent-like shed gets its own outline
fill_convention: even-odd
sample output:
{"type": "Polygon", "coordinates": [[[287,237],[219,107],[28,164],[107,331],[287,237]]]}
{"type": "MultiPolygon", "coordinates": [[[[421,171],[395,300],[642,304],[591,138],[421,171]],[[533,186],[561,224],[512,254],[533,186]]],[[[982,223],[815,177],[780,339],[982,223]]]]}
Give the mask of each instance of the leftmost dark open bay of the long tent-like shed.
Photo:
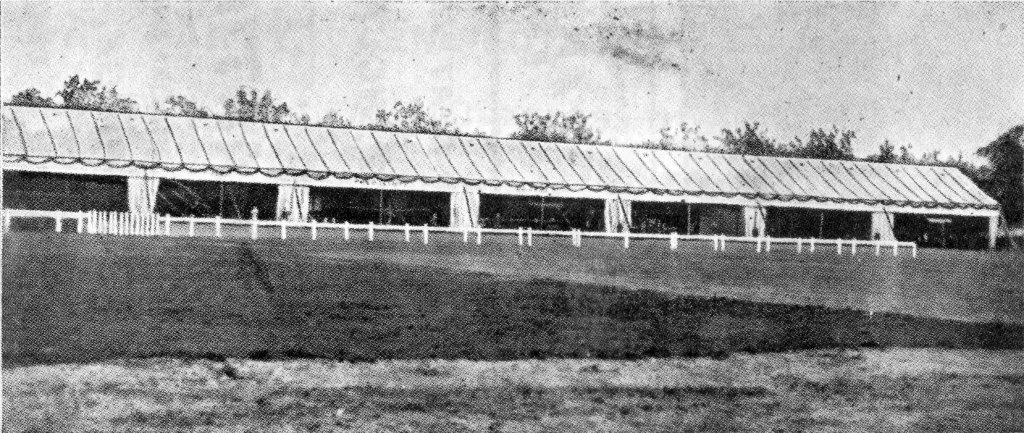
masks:
{"type": "Polygon", "coordinates": [[[91,176],[5,171],[3,206],[38,211],[128,211],[128,180],[91,176]]]}

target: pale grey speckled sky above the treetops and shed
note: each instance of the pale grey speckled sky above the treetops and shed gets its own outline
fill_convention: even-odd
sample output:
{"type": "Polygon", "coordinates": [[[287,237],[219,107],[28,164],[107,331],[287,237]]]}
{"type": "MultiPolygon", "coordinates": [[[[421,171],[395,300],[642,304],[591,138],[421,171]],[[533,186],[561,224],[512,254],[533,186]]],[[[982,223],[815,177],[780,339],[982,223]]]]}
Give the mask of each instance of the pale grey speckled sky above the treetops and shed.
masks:
{"type": "Polygon", "coordinates": [[[837,125],[969,154],[1024,123],[1024,4],[3,3],[2,93],[99,79],[216,113],[239,85],[317,119],[395,100],[463,130],[581,111],[617,142],[679,122],[790,139],[837,125]]]}

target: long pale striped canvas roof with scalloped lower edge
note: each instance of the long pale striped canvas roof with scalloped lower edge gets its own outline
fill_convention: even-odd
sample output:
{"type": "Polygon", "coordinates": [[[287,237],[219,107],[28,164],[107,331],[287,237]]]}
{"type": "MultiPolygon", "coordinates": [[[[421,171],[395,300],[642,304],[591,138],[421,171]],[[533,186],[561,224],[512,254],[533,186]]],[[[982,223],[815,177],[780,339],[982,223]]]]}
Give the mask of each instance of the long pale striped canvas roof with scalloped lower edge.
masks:
{"type": "Polygon", "coordinates": [[[7,162],[914,207],[997,207],[959,170],[948,167],[25,106],[4,106],[2,115],[7,162]]]}

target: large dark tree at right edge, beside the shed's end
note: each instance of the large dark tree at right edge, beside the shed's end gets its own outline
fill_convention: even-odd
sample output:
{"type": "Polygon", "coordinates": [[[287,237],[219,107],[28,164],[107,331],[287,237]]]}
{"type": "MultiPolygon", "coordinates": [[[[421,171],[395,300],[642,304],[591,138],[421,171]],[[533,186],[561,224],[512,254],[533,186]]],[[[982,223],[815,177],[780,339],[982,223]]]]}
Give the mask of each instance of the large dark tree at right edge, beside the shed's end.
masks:
{"type": "Polygon", "coordinates": [[[1024,220],[1024,125],[1010,128],[978,149],[992,167],[988,192],[1002,206],[1007,221],[1024,220]]]}

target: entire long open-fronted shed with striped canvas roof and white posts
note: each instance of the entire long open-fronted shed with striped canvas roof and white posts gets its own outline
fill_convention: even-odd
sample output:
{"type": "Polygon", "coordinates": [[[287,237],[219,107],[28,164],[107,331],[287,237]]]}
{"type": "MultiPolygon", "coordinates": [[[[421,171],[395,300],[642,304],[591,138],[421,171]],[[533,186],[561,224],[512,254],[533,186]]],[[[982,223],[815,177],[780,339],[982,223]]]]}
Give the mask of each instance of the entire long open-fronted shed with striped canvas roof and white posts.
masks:
{"type": "Polygon", "coordinates": [[[950,246],[990,245],[998,218],[948,167],[9,105],[2,118],[6,208],[57,207],[46,197],[63,187],[122,200],[60,206],[143,213],[950,246]]]}

